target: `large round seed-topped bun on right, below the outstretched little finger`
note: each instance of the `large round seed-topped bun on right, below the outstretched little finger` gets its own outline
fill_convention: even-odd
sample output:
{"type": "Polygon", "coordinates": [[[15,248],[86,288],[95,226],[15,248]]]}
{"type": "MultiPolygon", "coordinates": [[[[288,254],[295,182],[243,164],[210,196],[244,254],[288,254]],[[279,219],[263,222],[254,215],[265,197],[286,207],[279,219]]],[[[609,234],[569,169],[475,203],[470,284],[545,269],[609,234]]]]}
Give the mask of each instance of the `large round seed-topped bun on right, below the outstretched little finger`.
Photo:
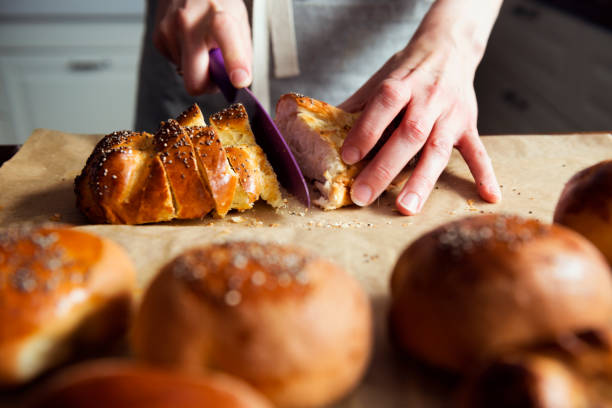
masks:
{"type": "Polygon", "coordinates": [[[468,217],[425,234],[397,261],[391,293],[397,344],[458,371],[612,317],[601,253],[567,228],[517,216],[468,217]]]}

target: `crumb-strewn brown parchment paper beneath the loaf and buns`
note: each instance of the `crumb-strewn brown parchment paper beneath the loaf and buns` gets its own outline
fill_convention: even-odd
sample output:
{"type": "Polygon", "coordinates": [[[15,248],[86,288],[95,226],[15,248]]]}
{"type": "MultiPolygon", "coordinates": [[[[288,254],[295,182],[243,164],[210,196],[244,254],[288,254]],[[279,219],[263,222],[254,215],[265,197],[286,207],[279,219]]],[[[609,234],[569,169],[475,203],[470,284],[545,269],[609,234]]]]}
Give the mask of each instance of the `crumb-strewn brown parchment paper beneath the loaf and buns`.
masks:
{"type": "Polygon", "coordinates": [[[38,129],[0,168],[0,227],[60,221],[124,246],[137,270],[140,292],[164,263],[209,242],[254,239],[299,245],[343,266],[370,294],[376,318],[372,364],[358,390],[339,406],[445,406],[455,379],[400,358],[389,346],[385,316],[388,279],[399,253],[420,234],[452,219],[482,212],[516,213],[544,222],[565,182],[578,170],[612,158],[612,134],[485,136],[502,185],[501,204],[479,198],[461,156],[454,152],[421,214],[399,215],[393,193],[369,208],[310,210],[289,198],[287,208],[265,204],[225,219],[206,218],[145,226],[88,225],[75,207],[74,177],[99,135],[38,129]]]}

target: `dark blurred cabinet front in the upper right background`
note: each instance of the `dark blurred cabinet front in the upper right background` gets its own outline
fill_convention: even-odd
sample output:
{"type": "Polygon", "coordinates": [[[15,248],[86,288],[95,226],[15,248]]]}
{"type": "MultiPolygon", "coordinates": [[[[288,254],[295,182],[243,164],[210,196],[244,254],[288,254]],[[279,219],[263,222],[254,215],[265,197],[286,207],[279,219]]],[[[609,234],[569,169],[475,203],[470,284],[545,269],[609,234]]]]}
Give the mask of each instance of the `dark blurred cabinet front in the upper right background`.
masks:
{"type": "Polygon", "coordinates": [[[505,0],[475,88],[482,134],[612,131],[612,0],[505,0]]]}

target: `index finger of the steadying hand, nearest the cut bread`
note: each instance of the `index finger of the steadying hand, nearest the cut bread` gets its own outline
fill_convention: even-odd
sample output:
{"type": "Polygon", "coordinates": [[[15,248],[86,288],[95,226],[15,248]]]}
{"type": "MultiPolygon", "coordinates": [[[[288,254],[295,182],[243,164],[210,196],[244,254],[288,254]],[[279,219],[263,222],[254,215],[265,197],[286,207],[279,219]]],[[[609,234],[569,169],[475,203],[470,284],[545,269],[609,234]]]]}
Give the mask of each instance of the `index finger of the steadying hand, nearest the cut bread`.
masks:
{"type": "Polygon", "coordinates": [[[384,80],[349,131],[342,145],[342,160],[354,164],[365,157],[409,100],[405,81],[384,80]]]}

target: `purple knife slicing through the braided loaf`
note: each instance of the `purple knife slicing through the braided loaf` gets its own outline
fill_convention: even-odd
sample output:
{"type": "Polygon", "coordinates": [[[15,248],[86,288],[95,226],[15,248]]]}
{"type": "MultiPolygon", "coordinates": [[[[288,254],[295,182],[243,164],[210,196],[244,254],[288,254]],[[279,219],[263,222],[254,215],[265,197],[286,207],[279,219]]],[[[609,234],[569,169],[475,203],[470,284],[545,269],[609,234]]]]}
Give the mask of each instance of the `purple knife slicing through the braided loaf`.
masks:
{"type": "Polygon", "coordinates": [[[229,103],[244,105],[255,139],[266,153],[280,184],[306,207],[310,207],[306,180],[283,135],[250,89],[236,89],[232,85],[219,48],[210,51],[209,73],[229,103]]]}

